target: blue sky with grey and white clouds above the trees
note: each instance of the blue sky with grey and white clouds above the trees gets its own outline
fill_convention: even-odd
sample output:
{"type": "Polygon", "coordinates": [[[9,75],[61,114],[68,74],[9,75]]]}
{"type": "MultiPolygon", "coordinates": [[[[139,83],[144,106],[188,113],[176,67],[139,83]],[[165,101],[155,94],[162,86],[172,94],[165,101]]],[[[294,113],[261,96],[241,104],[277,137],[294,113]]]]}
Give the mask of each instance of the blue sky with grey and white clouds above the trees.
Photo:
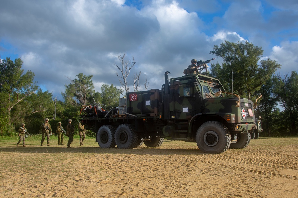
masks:
{"type": "Polygon", "coordinates": [[[225,40],[261,46],[281,75],[298,72],[296,0],[10,0],[1,2],[0,27],[1,58],[21,58],[60,100],[78,73],[93,75],[95,91],[120,87],[114,64],[123,53],[136,61],[131,87],[141,71],[139,90],[146,76],[160,89],[165,70],[181,76],[193,58],[221,63],[209,53],[225,40]]]}

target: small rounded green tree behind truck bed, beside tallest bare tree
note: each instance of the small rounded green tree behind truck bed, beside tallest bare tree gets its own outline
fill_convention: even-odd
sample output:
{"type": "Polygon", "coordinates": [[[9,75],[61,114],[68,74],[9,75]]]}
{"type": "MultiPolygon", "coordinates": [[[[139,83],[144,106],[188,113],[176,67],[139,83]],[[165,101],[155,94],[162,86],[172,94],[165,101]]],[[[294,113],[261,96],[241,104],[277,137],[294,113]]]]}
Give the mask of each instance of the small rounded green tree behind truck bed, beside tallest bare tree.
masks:
{"type": "Polygon", "coordinates": [[[117,107],[119,105],[119,97],[121,93],[122,89],[117,89],[113,84],[103,84],[101,86],[101,96],[103,98],[103,104],[105,104],[106,107],[117,107]]]}

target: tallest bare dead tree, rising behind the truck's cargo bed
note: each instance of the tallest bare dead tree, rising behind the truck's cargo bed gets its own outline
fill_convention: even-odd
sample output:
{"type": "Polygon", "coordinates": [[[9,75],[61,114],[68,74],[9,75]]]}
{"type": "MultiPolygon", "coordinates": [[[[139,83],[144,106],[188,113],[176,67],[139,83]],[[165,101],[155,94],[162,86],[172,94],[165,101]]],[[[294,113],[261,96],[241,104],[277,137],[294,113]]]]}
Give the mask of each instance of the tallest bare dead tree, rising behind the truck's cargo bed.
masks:
{"type": "Polygon", "coordinates": [[[136,64],[136,62],[134,61],[134,57],[132,58],[132,61],[126,61],[125,60],[125,55],[126,55],[125,53],[123,53],[122,55],[118,54],[117,58],[119,59],[121,65],[118,66],[115,63],[114,63],[114,65],[121,72],[120,75],[117,72],[115,72],[115,73],[116,73],[122,87],[124,88],[125,92],[127,93],[127,92],[129,92],[127,77],[129,75],[129,72],[130,72],[131,68],[136,64]]]}

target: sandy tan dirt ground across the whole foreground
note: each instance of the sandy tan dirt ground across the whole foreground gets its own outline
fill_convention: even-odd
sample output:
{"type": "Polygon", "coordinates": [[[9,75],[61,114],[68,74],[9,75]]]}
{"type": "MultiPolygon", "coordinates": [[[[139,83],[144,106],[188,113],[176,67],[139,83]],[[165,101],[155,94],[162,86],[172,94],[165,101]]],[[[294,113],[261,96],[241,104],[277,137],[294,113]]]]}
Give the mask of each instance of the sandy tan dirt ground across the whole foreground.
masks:
{"type": "Polygon", "coordinates": [[[298,197],[297,144],[266,141],[222,154],[181,141],[134,149],[4,145],[0,197],[298,197]]]}

